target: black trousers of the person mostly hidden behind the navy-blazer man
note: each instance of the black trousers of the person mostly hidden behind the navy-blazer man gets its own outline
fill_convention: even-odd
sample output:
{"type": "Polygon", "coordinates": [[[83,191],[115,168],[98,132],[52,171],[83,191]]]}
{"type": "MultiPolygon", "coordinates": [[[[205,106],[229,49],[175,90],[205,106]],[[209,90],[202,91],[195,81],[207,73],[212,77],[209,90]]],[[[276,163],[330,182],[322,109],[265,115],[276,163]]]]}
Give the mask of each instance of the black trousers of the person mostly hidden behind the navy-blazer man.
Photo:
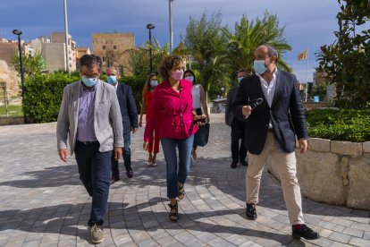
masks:
{"type": "Polygon", "coordinates": [[[246,123],[234,118],[231,123],[231,158],[233,162],[245,160],[247,157],[245,130],[246,123]]]}

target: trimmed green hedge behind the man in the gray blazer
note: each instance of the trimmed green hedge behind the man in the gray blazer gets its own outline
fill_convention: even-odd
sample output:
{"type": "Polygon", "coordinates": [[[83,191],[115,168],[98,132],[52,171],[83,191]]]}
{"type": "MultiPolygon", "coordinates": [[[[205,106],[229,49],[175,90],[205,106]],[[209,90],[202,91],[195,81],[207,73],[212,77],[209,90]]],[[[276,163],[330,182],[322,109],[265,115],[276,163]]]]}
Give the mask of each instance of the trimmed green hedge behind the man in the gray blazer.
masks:
{"type": "MultiPolygon", "coordinates": [[[[106,81],[106,76],[101,79],[106,81]]],[[[51,74],[38,74],[28,77],[24,83],[23,111],[28,123],[55,122],[63,98],[63,89],[74,81],[79,81],[80,76],[65,72],[51,74]]],[[[138,113],[141,106],[141,93],[146,79],[133,76],[124,76],[120,82],[131,86],[138,113]]]]}

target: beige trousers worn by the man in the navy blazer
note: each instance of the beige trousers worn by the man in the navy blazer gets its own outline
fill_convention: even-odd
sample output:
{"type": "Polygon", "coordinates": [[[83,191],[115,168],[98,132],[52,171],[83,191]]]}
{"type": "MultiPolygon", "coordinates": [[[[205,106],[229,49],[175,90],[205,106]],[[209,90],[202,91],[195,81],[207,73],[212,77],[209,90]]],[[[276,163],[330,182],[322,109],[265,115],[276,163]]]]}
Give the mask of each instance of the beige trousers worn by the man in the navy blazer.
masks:
{"type": "Polygon", "coordinates": [[[280,175],[282,193],[288,209],[291,225],[304,224],[302,214],[302,198],[296,176],[296,155],[284,153],[276,145],[272,132],[267,133],[265,147],[259,155],[248,153],[248,169],[246,175],[247,203],[258,203],[258,192],[265,161],[271,155],[273,166],[280,175]]]}

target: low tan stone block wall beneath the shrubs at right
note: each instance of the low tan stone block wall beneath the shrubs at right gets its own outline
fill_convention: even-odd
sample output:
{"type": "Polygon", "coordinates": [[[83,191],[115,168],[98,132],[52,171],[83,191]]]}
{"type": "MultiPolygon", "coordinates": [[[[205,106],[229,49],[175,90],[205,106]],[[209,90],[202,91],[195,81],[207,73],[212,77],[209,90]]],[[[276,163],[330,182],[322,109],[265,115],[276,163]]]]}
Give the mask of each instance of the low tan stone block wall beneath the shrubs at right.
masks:
{"type": "MultiPolygon", "coordinates": [[[[307,153],[296,150],[302,195],[310,200],[370,209],[370,141],[357,143],[311,138],[307,153]]],[[[271,174],[279,179],[268,159],[271,174]]]]}

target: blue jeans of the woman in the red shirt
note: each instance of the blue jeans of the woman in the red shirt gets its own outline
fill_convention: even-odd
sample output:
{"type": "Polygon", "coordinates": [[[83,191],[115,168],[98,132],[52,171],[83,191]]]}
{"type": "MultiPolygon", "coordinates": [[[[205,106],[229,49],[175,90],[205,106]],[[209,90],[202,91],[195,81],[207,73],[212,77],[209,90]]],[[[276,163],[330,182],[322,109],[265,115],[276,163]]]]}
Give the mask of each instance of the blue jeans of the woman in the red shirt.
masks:
{"type": "Polygon", "coordinates": [[[187,139],[161,138],[166,165],[167,197],[170,199],[179,196],[177,183],[185,183],[188,177],[193,141],[194,135],[187,139]],[[177,161],[176,146],[179,149],[179,162],[177,161]]]}

